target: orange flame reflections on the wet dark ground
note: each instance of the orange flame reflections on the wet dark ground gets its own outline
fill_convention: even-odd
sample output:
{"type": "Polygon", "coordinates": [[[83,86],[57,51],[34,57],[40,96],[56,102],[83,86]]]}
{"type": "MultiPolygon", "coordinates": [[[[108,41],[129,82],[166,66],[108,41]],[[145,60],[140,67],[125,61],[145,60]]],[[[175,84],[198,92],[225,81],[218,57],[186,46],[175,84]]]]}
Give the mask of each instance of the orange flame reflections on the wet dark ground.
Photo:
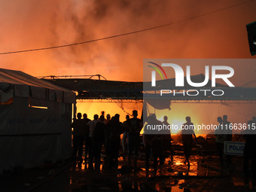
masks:
{"type": "MultiPolygon", "coordinates": [[[[209,147],[210,146],[212,149],[214,148],[213,145],[209,145],[209,147]]],[[[153,158],[151,158],[150,169],[146,172],[145,153],[141,150],[138,162],[141,170],[138,172],[123,171],[125,170],[123,168],[127,165],[127,158],[124,159],[123,157],[119,157],[117,172],[102,170],[101,178],[104,180],[111,177],[118,185],[119,191],[155,191],[152,189],[158,191],[198,191],[199,189],[202,189],[200,191],[227,191],[230,189],[236,191],[245,190],[242,183],[243,178],[239,173],[242,170],[242,157],[233,158],[233,163],[236,165],[236,170],[238,172],[235,172],[232,177],[229,177],[221,171],[216,151],[205,151],[204,154],[206,157],[203,162],[203,157],[197,153],[196,150],[193,150],[190,157],[190,167],[188,168],[184,164],[185,158],[182,151],[182,145],[178,143],[174,144],[173,150],[173,160],[167,155],[164,165],[158,165],[157,172],[154,172],[153,169],[153,158]],[[209,167],[212,167],[213,169],[209,169],[209,167]],[[147,187],[151,190],[149,190],[149,188],[148,190],[145,190],[147,187]]],[[[80,166],[76,167],[76,172],[78,172],[79,167],[80,166]]],[[[88,177],[90,181],[94,177],[99,179],[99,175],[94,175],[93,172],[87,170],[87,164],[83,163],[81,169],[83,172],[87,173],[85,177],[88,177]]],[[[75,178],[73,179],[75,181],[75,178]]],[[[94,183],[87,183],[87,185],[90,184],[94,183]]]]}

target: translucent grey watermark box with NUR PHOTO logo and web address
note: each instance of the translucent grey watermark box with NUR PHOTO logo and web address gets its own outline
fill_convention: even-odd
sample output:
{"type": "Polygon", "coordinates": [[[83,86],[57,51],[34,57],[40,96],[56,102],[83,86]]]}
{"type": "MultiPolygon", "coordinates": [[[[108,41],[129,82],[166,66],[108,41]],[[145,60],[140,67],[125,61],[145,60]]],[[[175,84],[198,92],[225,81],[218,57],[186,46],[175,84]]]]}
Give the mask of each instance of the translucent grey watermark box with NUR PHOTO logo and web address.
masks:
{"type": "Polygon", "coordinates": [[[255,134],[254,79],[255,59],[143,59],[145,135],[255,134]]]}

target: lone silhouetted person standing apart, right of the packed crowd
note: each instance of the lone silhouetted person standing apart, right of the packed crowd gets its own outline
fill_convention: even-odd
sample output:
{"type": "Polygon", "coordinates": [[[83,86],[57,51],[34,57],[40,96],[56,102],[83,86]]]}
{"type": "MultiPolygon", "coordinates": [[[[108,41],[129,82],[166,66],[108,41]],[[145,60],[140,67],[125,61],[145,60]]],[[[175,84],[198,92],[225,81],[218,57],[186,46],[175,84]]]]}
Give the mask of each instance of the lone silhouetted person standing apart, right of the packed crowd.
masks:
{"type": "Polygon", "coordinates": [[[187,162],[187,166],[190,166],[189,163],[189,157],[192,150],[192,144],[193,144],[193,138],[192,136],[197,139],[195,133],[194,133],[194,123],[191,123],[190,117],[186,117],[186,123],[182,125],[183,130],[181,131],[182,134],[182,142],[183,142],[183,148],[184,148],[184,156],[186,158],[185,163],[187,162]]]}

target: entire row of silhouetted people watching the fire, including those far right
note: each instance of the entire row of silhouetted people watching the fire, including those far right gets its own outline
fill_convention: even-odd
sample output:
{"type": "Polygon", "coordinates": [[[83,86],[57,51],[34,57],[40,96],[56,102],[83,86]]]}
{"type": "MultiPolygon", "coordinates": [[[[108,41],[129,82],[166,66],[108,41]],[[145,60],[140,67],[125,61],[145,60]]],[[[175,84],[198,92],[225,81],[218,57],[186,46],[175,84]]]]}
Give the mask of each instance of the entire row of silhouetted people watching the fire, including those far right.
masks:
{"type": "MultiPolygon", "coordinates": [[[[85,163],[88,163],[89,169],[100,170],[102,163],[101,154],[102,149],[105,150],[104,167],[105,169],[117,169],[118,157],[120,156],[120,149],[122,148],[123,159],[128,157],[128,169],[139,170],[137,165],[139,149],[145,150],[145,167],[148,171],[150,167],[151,157],[154,159],[154,170],[157,170],[158,163],[163,165],[166,156],[172,157],[172,138],[170,130],[161,132],[160,134],[152,134],[145,129],[143,139],[141,137],[141,130],[143,122],[138,118],[138,111],[133,111],[133,117],[126,115],[126,120],[120,122],[120,115],[115,114],[111,117],[102,111],[99,116],[95,114],[93,120],[87,118],[84,114],[81,118],[81,113],[77,114],[77,119],[72,123],[73,127],[73,159],[82,162],[83,146],[85,146],[85,163]],[[123,134],[121,141],[120,135],[123,134]],[[122,144],[122,145],[121,145],[122,144]],[[168,151],[168,154],[166,154],[168,151]],[[94,166],[93,166],[94,163],[94,166]]],[[[190,117],[185,117],[186,123],[182,126],[192,127],[192,129],[181,130],[185,164],[190,167],[190,154],[194,140],[197,142],[197,136],[194,133],[194,123],[191,122],[190,117]],[[194,139],[193,139],[194,137],[194,139]]],[[[233,139],[232,124],[227,120],[227,115],[218,117],[218,127],[215,130],[215,144],[218,150],[219,160],[223,169],[232,169],[232,158],[228,154],[224,154],[224,142],[230,142],[233,139]]],[[[255,126],[256,119],[249,120],[248,126],[255,126]]],[[[169,126],[168,117],[163,117],[163,122],[157,120],[155,114],[150,114],[145,120],[145,127],[148,124],[166,125],[169,126]]],[[[255,128],[255,127],[254,127],[255,128]]],[[[247,183],[250,175],[248,164],[251,160],[251,174],[256,186],[256,136],[254,134],[247,134],[245,130],[244,138],[244,174],[245,183],[247,183]],[[247,180],[246,180],[247,179],[247,180]]],[[[103,168],[102,168],[103,169],[103,168]]]]}

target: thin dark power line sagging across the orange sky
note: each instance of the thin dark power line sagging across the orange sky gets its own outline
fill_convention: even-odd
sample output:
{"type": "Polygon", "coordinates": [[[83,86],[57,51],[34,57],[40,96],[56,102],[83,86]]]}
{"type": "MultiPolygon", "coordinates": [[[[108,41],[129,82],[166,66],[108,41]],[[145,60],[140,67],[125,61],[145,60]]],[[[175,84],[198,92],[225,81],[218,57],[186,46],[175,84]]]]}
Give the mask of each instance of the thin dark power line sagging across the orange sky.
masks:
{"type": "Polygon", "coordinates": [[[11,54],[11,53],[25,53],[25,52],[31,52],[31,51],[37,51],[37,50],[50,50],[50,49],[56,49],[56,48],[61,48],[61,47],[71,47],[71,46],[75,46],[75,45],[79,45],[79,44],[93,43],[93,42],[96,42],[96,41],[102,41],[102,40],[106,40],[106,39],[110,39],[110,38],[117,38],[117,37],[121,37],[121,36],[125,36],[125,35],[136,34],[136,33],[139,33],[139,32],[146,32],[146,31],[150,31],[150,30],[153,30],[153,29],[162,28],[162,27],[165,27],[165,26],[171,26],[171,25],[174,25],[174,24],[177,24],[177,23],[182,23],[182,22],[185,22],[187,20],[194,20],[194,19],[199,18],[199,17],[203,17],[203,16],[206,16],[206,15],[209,15],[209,14],[214,14],[216,12],[224,11],[224,10],[227,10],[227,9],[230,9],[230,8],[234,8],[238,5],[243,5],[243,4],[245,4],[247,2],[251,2],[251,1],[253,1],[253,0],[248,0],[246,2],[241,2],[241,3],[236,4],[236,5],[230,5],[229,7],[221,8],[221,9],[218,9],[216,11],[211,11],[211,12],[206,13],[206,14],[201,14],[201,15],[198,15],[198,16],[195,16],[195,17],[190,17],[190,18],[184,19],[184,20],[178,20],[178,21],[172,22],[172,23],[166,23],[166,24],[160,25],[160,26],[154,26],[154,27],[151,27],[151,28],[148,28],[148,29],[141,29],[141,30],[138,30],[138,31],[126,32],[126,33],[123,33],[123,34],[113,35],[113,36],[109,36],[109,37],[105,37],[105,38],[96,38],[96,39],[93,39],[93,40],[90,40],[90,41],[82,41],[82,42],[78,42],[78,43],[74,43],[74,44],[64,44],[64,45],[53,46],[53,47],[42,47],[42,48],[35,48],[35,49],[29,49],[29,50],[16,50],[16,51],[10,51],[10,52],[3,52],[3,53],[0,53],[0,55],[11,54]]]}

